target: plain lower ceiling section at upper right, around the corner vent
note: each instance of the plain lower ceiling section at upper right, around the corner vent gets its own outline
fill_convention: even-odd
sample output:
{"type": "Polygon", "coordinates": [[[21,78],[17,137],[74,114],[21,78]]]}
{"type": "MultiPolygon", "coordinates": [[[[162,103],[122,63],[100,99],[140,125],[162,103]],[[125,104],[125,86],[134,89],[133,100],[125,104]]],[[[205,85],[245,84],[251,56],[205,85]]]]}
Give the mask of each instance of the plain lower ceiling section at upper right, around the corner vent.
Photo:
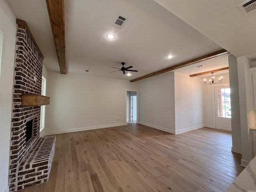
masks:
{"type": "Polygon", "coordinates": [[[256,14],[245,17],[246,0],[155,0],[234,56],[256,60],[256,14]]]}

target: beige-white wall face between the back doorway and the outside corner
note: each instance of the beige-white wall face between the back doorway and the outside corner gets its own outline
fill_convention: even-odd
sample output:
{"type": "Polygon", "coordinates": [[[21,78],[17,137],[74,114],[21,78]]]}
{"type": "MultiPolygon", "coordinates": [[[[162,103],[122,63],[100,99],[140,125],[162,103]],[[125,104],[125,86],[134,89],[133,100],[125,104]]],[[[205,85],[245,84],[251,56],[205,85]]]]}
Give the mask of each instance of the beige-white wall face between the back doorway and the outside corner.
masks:
{"type": "Polygon", "coordinates": [[[139,82],[139,123],[175,133],[174,72],[139,82]]]}

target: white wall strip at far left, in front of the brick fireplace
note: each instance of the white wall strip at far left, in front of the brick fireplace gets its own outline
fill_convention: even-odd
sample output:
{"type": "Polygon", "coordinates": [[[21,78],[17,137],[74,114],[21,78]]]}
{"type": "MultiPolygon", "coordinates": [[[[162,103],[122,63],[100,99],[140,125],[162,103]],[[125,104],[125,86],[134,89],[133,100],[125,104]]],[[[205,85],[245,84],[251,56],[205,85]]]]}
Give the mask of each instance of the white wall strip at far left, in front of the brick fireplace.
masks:
{"type": "Polygon", "coordinates": [[[8,190],[10,128],[16,18],[5,0],[0,1],[0,30],[4,33],[0,74],[0,192],[8,190]]]}

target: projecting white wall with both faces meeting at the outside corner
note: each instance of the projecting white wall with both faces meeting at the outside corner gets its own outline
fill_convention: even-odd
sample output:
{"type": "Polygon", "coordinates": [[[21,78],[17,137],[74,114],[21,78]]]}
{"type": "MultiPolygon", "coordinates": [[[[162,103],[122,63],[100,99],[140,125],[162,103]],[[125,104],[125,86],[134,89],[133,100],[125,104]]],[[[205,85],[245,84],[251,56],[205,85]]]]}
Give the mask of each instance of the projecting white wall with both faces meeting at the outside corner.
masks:
{"type": "Polygon", "coordinates": [[[170,72],[140,81],[140,123],[173,134],[204,126],[200,80],[170,72]]]}

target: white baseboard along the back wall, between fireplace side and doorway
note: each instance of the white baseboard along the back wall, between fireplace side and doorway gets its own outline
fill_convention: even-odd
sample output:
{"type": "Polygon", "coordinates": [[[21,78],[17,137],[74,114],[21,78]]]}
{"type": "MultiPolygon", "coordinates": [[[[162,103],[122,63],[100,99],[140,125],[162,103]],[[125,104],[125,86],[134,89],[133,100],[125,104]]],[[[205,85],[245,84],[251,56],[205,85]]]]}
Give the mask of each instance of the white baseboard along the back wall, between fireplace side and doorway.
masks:
{"type": "Polygon", "coordinates": [[[108,127],[123,126],[123,125],[126,125],[126,123],[118,123],[118,124],[110,124],[110,125],[100,125],[100,126],[92,126],[92,127],[82,127],[82,128],[75,128],[75,129],[49,131],[49,132],[46,132],[45,135],[70,133],[70,132],[77,132],[77,131],[86,131],[86,130],[92,130],[92,129],[101,129],[101,128],[108,128],[108,127]]]}

